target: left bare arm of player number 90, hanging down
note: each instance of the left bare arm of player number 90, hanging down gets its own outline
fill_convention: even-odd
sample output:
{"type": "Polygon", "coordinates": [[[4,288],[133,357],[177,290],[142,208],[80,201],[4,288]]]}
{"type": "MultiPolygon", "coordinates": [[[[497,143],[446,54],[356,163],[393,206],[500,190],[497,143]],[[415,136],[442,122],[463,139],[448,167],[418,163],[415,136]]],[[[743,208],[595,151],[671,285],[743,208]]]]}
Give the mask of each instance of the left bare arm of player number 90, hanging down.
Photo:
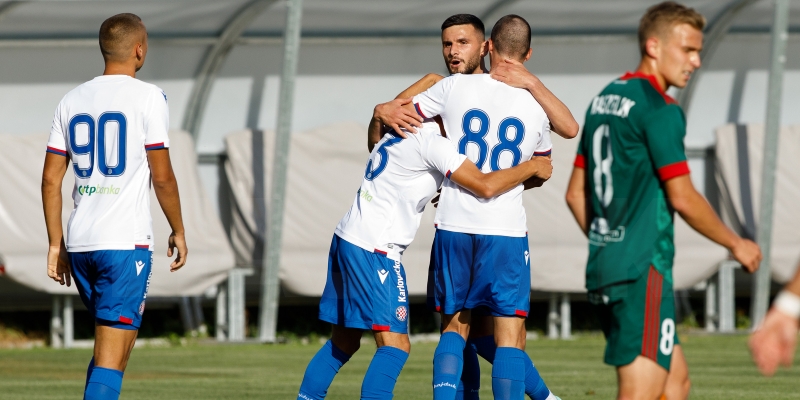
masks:
{"type": "Polygon", "coordinates": [[[67,248],[64,245],[64,228],[61,225],[61,182],[67,172],[69,158],[47,153],[42,171],[42,204],[44,222],[47,225],[47,276],[54,281],[70,286],[72,277],[69,271],[67,248]]]}

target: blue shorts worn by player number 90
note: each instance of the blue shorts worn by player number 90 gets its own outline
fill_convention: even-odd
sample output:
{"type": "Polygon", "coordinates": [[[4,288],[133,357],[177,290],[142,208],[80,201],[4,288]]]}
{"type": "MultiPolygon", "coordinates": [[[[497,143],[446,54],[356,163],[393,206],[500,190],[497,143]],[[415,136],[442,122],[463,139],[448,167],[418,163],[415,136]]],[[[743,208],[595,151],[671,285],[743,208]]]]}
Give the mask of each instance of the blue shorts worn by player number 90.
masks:
{"type": "Polygon", "coordinates": [[[100,325],[135,330],[142,324],[153,252],[148,249],[69,253],[72,276],[100,325]]]}

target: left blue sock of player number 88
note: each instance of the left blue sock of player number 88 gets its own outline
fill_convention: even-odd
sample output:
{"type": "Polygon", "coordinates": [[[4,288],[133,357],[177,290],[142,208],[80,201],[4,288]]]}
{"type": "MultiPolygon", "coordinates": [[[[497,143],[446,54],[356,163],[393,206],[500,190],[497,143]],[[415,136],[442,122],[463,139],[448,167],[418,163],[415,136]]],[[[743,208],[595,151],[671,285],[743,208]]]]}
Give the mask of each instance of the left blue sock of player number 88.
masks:
{"type": "Polygon", "coordinates": [[[464,359],[464,338],[455,332],[445,332],[433,354],[433,398],[454,400],[461,380],[464,359]]]}

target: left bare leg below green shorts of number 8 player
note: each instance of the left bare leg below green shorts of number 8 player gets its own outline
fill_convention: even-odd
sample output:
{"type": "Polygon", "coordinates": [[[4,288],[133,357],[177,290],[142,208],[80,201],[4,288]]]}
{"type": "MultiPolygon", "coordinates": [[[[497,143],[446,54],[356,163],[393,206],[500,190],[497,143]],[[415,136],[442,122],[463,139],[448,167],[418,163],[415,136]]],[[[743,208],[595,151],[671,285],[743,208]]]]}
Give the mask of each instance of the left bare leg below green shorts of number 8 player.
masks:
{"type": "Polygon", "coordinates": [[[617,367],[619,400],[654,400],[661,397],[667,382],[667,370],[655,361],[637,356],[628,365],[617,367]]]}

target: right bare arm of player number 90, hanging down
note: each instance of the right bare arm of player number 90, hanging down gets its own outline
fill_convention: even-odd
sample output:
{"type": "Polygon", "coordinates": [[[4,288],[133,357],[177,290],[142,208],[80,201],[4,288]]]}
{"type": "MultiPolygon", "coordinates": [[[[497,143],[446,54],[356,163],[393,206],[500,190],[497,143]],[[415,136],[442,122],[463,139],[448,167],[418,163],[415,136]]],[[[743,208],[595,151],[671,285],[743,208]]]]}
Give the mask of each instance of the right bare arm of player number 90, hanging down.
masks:
{"type": "Polygon", "coordinates": [[[172,233],[169,235],[167,257],[172,257],[173,250],[177,248],[178,257],[170,264],[170,271],[175,272],[186,264],[189,250],[186,248],[186,237],[181,216],[181,199],[178,194],[178,181],[172,171],[169,159],[169,149],[150,150],[147,152],[147,161],[153,176],[153,190],[156,192],[158,204],[167,217],[172,233]]]}

